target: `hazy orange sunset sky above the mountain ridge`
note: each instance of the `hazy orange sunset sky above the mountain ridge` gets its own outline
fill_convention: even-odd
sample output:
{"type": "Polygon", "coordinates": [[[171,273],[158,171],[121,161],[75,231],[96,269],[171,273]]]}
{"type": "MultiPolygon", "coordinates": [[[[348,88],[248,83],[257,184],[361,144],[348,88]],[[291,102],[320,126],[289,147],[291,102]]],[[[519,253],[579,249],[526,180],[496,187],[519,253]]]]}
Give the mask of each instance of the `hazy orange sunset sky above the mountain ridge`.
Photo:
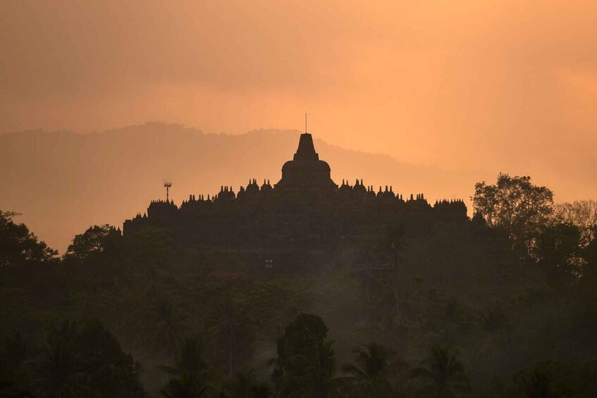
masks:
{"type": "MultiPolygon", "coordinates": [[[[0,132],[148,120],[597,195],[597,1],[16,1],[0,132]]],[[[572,193],[570,193],[572,192],[572,193]]]]}

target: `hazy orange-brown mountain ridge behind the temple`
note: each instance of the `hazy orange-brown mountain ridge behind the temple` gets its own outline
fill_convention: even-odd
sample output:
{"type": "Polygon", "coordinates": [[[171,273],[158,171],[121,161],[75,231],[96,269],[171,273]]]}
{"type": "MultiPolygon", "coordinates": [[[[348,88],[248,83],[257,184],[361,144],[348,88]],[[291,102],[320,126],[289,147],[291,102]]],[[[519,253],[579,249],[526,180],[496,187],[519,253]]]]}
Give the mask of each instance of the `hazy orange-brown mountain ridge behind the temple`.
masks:
{"type": "MultiPolygon", "coordinates": [[[[144,212],[152,199],[165,197],[163,181],[173,182],[177,204],[189,194],[215,194],[221,185],[235,190],[249,178],[281,177],[300,131],[254,130],[242,135],[206,134],[195,128],[146,123],[104,132],[78,134],[42,130],[0,135],[0,209],[23,213],[20,221],[51,247],[64,251],[73,235],[89,225],[120,226],[144,212]]],[[[479,173],[402,163],[385,154],[368,154],[317,139],[320,158],[332,179],[362,178],[395,192],[424,192],[430,201],[468,199],[479,173]]]]}

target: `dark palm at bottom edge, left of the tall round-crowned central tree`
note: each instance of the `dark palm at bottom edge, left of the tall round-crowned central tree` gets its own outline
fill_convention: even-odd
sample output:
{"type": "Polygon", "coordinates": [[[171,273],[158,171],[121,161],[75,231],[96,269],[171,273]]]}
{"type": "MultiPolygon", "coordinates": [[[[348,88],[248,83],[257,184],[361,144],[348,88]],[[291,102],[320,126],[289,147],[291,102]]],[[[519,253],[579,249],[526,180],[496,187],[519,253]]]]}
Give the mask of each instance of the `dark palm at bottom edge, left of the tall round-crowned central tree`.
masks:
{"type": "Polygon", "coordinates": [[[189,398],[207,397],[211,386],[209,372],[203,359],[203,348],[199,339],[187,337],[183,342],[175,366],[161,366],[170,375],[168,384],[161,390],[164,397],[189,398]]]}

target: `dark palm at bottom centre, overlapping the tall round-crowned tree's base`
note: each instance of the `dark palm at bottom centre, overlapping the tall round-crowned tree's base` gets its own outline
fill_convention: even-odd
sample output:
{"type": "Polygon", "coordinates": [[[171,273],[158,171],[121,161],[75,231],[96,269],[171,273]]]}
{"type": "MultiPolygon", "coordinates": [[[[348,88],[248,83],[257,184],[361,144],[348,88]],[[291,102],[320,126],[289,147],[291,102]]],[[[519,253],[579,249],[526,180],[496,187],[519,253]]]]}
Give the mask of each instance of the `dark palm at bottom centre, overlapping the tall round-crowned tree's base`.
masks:
{"type": "Polygon", "coordinates": [[[282,376],[279,395],[288,398],[339,397],[341,379],[334,378],[336,358],[333,341],[326,340],[302,355],[290,359],[295,373],[282,376]]]}

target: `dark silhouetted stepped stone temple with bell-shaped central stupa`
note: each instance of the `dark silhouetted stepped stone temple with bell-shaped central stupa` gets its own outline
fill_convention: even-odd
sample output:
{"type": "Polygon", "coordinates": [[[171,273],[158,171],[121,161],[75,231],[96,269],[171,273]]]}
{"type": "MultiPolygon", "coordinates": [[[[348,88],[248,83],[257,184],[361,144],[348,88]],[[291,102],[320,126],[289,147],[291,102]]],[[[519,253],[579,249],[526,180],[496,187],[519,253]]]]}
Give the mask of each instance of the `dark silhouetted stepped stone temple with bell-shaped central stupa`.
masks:
{"type": "Polygon", "coordinates": [[[275,185],[256,179],[234,192],[222,186],[210,197],[190,194],[176,206],[152,201],[147,213],[125,220],[123,235],[142,228],[167,228],[179,244],[238,254],[257,266],[307,270],[328,261],[345,247],[383,239],[396,225],[424,230],[430,224],[468,220],[462,200],[436,201],[423,194],[404,199],[393,187],[366,186],[363,180],[341,185],[319,159],[312,135],[300,136],[293,160],[282,167],[275,185]]]}

